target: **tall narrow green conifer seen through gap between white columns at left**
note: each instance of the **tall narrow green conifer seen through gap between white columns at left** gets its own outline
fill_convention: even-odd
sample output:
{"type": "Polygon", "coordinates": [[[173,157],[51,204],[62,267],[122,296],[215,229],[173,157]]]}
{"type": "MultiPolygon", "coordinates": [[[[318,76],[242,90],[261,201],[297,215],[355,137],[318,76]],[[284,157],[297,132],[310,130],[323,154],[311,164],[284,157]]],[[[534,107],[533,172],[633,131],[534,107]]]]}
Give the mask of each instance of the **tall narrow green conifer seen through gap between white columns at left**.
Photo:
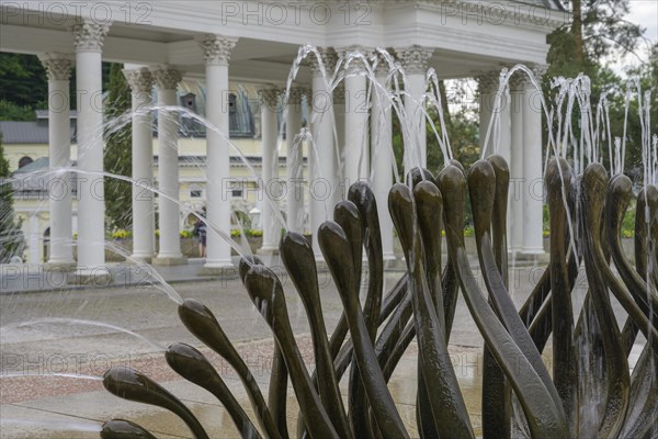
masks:
{"type": "MultiPolygon", "coordinates": [[[[110,82],[105,101],[107,121],[105,131],[104,169],[117,176],[129,177],[133,170],[132,136],[128,116],[132,97],[123,75],[122,65],[110,68],[110,82]]],[[[132,185],[116,178],[105,178],[105,216],[107,228],[128,229],[133,224],[132,185]]]]}

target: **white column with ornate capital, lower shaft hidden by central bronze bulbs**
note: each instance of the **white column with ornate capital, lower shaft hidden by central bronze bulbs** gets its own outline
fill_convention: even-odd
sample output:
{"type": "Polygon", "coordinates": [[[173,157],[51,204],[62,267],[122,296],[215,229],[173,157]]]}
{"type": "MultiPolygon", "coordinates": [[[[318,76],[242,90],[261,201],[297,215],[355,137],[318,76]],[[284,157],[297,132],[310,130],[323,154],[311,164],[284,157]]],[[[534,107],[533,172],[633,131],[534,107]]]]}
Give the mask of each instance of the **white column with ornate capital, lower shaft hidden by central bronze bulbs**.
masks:
{"type": "Polygon", "coordinates": [[[405,138],[405,173],[415,167],[427,166],[427,121],[423,112],[426,93],[426,74],[428,60],[434,52],[432,48],[413,45],[395,49],[405,68],[405,113],[407,121],[404,127],[405,138]]]}

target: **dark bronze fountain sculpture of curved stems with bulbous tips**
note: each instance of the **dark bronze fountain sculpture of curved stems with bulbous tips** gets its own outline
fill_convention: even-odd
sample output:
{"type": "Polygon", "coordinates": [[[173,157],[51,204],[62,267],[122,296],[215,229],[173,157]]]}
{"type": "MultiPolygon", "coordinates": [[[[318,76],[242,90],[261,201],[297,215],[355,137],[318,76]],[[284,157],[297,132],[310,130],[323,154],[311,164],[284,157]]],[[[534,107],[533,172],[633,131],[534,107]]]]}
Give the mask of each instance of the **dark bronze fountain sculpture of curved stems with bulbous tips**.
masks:
{"type": "MultiPolygon", "coordinates": [[[[631,180],[610,179],[590,165],[575,176],[564,159],[546,170],[551,213],[551,261],[526,303],[517,309],[509,294],[506,215],[508,166],[500,156],[478,160],[467,172],[449,162],[434,177],[415,169],[409,184],[389,193],[393,217],[407,264],[399,282],[383,294],[384,264],[375,198],[370,187],[353,184],[333,221],[315,236],[343,304],[337,328],[327,337],[315,255],[308,240],[286,233],[281,259],[300,295],[311,329],[315,372],[309,374],[291,329],[282,284],[258,258],[243,258],[239,271],[246,290],[275,340],[268,397],[237,353],[213,313],[185,300],[179,316],[185,327],[236,370],[253,408],[256,424],[197,349],[169,347],[169,365],[226,407],[243,438],[406,438],[409,434],[387,382],[413,338],[418,341],[416,414],[422,438],[474,438],[464,398],[447,353],[455,304],[461,291],[485,339],[483,432],[512,435],[513,402],[522,428],[533,438],[650,438],[658,419],[658,190],[647,185],[637,199],[633,268],[623,255],[621,222],[632,198],[631,180]],[[464,210],[470,198],[477,256],[486,291],[478,284],[464,244],[464,210]],[[442,230],[447,260],[442,264],[442,230]],[[367,296],[359,300],[363,251],[370,272],[367,296]],[[613,264],[611,264],[611,261],[613,264]],[[574,317],[571,292],[585,267],[588,293],[574,317]],[[614,269],[613,269],[614,268],[614,269]],[[623,328],[612,312],[610,293],[625,309],[623,328]],[[488,300],[487,300],[488,296],[488,300]],[[347,339],[347,336],[350,336],[347,339]],[[628,354],[642,334],[647,342],[633,372],[628,354]],[[553,370],[541,354],[552,336],[553,370]],[[583,351],[582,346],[589,346],[583,351]],[[593,367],[598,364],[599,367],[593,367]],[[583,369],[597,374],[601,401],[587,401],[583,369]],[[347,404],[339,382],[350,369],[347,404]],[[552,372],[552,373],[551,373],[552,372]],[[299,402],[297,431],[286,425],[291,381],[299,402]],[[583,416],[582,407],[594,404],[583,416]]],[[[107,391],[122,398],[163,407],[179,416],[195,438],[208,438],[194,414],[174,395],[127,368],[110,369],[107,391]]],[[[102,438],[152,438],[128,420],[104,424],[102,438]]]]}

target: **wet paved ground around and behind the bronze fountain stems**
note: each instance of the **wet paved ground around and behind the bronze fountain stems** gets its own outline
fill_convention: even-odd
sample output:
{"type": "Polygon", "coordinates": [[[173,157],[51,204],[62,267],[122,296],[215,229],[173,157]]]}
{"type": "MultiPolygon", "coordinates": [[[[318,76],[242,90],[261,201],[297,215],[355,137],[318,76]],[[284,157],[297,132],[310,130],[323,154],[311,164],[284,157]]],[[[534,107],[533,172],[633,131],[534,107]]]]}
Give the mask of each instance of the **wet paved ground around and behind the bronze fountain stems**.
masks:
{"type": "MultiPolygon", "coordinates": [[[[512,271],[511,295],[515,303],[524,301],[541,272],[541,268],[533,267],[512,271]]],[[[342,305],[329,274],[319,277],[322,311],[331,331],[342,305]]],[[[387,273],[387,288],[399,277],[400,273],[387,273]]],[[[310,367],[313,350],[303,305],[290,279],[282,275],[282,282],[293,330],[310,367]]],[[[101,424],[115,417],[136,421],[161,438],[191,437],[185,425],[172,414],[125,402],[105,392],[98,376],[111,365],[133,367],[162,383],[197,415],[212,438],[240,437],[214,396],[181,380],[163,361],[162,349],[173,342],[197,347],[251,413],[232,370],[192,337],[178,319],[177,294],[182,299],[197,299],[215,313],[266,395],[272,337],[238,280],[186,282],[181,275],[172,286],[155,282],[7,293],[0,296],[0,438],[98,438],[101,424]]],[[[574,294],[577,307],[583,296],[585,290],[577,289],[574,294]]],[[[450,353],[477,435],[481,434],[481,346],[483,339],[465,303],[460,300],[450,353]]],[[[415,427],[417,361],[418,352],[412,344],[389,384],[412,437],[418,436],[415,427]]],[[[347,396],[345,379],[341,386],[347,396]]],[[[293,395],[291,387],[291,429],[294,429],[297,413],[293,395]]]]}

